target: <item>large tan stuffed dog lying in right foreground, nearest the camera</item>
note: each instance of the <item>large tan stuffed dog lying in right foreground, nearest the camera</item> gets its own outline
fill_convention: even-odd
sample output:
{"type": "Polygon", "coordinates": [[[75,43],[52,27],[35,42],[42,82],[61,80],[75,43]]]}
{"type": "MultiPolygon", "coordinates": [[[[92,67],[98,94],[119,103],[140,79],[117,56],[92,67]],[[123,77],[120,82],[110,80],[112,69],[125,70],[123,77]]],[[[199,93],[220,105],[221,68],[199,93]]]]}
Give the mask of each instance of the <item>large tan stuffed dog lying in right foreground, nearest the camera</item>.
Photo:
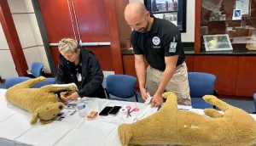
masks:
{"type": "Polygon", "coordinates": [[[163,108],[142,121],[119,126],[122,145],[181,144],[194,146],[249,146],[256,143],[256,122],[244,110],[226,104],[218,98],[204,97],[209,104],[224,111],[206,109],[206,115],[177,110],[174,93],[167,98],[163,108]]]}

